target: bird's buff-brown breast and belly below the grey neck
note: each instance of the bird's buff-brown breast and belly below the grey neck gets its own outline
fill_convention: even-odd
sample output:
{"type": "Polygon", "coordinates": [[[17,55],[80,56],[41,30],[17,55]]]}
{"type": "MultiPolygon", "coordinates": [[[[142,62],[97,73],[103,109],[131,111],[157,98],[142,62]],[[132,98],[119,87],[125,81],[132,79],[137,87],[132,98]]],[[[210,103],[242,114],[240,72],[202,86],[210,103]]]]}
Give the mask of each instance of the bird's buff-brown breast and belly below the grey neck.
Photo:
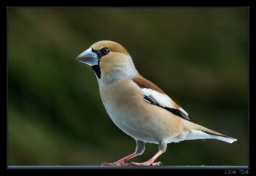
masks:
{"type": "Polygon", "coordinates": [[[178,118],[143,100],[143,91],[132,80],[100,86],[100,95],[112,121],[134,139],[158,143],[180,135],[178,118]]]}

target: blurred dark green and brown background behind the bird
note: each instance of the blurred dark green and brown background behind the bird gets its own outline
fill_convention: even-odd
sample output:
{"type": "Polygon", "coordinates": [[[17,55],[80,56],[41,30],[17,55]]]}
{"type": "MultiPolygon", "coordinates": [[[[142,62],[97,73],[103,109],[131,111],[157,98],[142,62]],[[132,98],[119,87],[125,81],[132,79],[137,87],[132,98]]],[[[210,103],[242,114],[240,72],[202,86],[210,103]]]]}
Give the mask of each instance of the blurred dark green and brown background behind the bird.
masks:
{"type": "MultiPolygon", "coordinates": [[[[8,8],[8,165],[100,165],[135,151],[76,57],[124,46],[198,124],[237,141],[170,143],[164,165],[248,165],[247,8],[8,8]]],[[[144,162],[158,151],[146,143],[144,162]]]]}

